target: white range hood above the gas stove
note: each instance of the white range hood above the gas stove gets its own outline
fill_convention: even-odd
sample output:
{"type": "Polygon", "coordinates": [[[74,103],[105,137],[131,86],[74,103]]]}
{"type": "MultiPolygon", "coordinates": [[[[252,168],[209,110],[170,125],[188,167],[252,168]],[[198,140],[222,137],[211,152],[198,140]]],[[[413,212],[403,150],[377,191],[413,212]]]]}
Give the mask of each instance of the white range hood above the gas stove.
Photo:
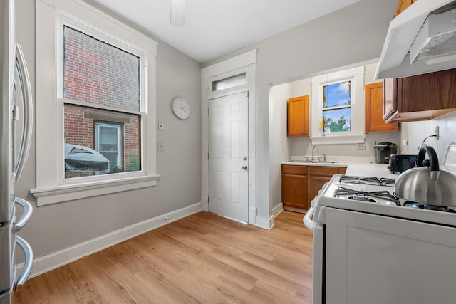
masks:
{"type": "Polygon", "coordinates": [[[390,23],[375,79],[456,68],[456,0],[418,0],[390,23]]]}

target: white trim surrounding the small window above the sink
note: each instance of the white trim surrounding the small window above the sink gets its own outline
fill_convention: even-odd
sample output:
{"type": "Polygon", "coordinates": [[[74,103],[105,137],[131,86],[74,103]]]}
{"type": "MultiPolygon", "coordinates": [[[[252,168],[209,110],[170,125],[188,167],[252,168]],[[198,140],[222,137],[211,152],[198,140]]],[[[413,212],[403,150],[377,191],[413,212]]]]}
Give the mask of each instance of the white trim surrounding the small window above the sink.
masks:
{"type": "Polygon", "coordinates": [[[364,142],[364,66],[311,78],[311,142],[312,145],[356,144],[364,142]],[[323,85],[351,80],[351,130],[321,134],[323,120],[323,85]]]}

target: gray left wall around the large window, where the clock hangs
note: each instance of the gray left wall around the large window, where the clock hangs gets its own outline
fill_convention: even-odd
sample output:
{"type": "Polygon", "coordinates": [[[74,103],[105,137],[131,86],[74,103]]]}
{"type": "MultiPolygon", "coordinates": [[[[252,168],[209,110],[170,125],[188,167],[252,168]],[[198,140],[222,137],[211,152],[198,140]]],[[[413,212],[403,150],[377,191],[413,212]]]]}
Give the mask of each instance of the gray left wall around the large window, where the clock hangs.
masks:
{"type": "MultiPolygon", "coordinates": [[[[34,64],[34,12],[35,1],[16,0],[16,16],[21,16],[21,20],[16,20],[16,41],[24,49],[33,88],[39,77],[34,64]]],[[[31,244],[36,257],[201,200],[200,65],[175,48],[155,41],[159,42],[157,121],[165,123],[165,130],[157,131],[157,140],[165,145],[164,152],[157,152],[157,173],[161,174],[157,186],[35,207],[20,235],[31,244]],[[195,109],[189,120],[172,115],[170,102],[177,95],[185,96],[195,109]]],[[[28,191],[36,188],[35,176],[33,142],[24,178],[16,185],[16,194],[32,203],[35,199],[28,191]]]]}

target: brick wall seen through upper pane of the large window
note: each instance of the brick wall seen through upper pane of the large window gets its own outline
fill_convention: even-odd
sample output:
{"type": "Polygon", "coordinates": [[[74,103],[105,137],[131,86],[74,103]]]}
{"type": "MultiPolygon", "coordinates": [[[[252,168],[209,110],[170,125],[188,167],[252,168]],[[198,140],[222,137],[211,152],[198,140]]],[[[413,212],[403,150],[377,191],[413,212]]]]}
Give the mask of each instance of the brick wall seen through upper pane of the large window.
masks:
{"type": "Polygon", "coordinates": [[[139,58],[65,27],[64,98],[140,110],[139,58]]]}

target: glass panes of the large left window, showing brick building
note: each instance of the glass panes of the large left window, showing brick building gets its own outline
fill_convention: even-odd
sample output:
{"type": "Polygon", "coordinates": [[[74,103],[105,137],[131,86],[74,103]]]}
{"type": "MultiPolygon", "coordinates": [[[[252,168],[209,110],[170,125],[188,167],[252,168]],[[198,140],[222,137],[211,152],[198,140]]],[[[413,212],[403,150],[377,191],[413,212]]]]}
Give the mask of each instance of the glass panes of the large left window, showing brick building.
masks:
{"type": "MultiPolygon", "coordinates": [[[[73,167],[65,167],[66,179],[140,170],[140,122],[141,116],[145,114],[140,100],[140,61],[143,58],[142,55],[124,51],[122,44],[113,46],[63,25],[65,145],[81,145],[90,149],[95,146],[109,167],[105,169],[92,165],[91,162],[98,164],[102,161],[100,155],[94,155],[90,159],[87,153],[81,154],[82,163],[77,166],[78,159],[72,155],[73,167]],[[106,123],[94,123],[97,117],[106,123]],[[125,130],[122,136],[118,123],[120,119],[123,120],[125,130]],[[107,140],[108,133],[114,130],[115,138],[119,137],[115,153],[108,152],[106,144],[100,145],[100,141],[103,138],[107,140]],[[99,138],[98,135],[103,137],[99,138]],[[125,151],[125,156],[122,151],[125,151]],[[114,154],[116,157],[113,157],[114,154]]],[[[113,146],[109,149],[113,149],[113,146]]]]}

